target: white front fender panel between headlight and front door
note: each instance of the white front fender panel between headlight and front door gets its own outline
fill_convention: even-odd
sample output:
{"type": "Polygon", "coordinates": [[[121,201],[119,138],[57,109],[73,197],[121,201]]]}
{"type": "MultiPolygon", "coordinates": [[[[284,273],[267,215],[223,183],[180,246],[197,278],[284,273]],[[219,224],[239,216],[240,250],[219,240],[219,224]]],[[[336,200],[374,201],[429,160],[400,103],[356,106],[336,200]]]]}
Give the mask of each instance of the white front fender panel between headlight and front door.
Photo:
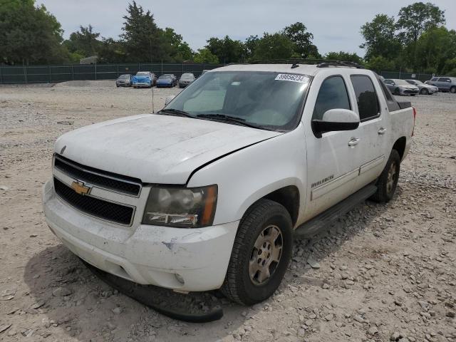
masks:
{"type": "Polygon", "coordinates": [[[299,190],[301,217],[306,199],[305,144],[304,128],[300,123],[291,132],[234,151],[204,165],[192,174],[187,186],[218,185],[214,225],[241,219],[258,199],[289,185],[299,190]]]}

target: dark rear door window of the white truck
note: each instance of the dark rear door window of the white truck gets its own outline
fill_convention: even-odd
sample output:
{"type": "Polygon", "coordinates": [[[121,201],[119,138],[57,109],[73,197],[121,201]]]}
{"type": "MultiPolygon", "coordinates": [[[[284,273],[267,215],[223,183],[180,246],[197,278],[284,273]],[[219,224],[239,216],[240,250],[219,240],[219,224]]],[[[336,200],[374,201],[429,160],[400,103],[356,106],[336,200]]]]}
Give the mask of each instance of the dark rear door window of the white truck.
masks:
{"type": "Polygon", "coordinates": [[[350,78],[358,101],[359,120],[366,121],[378,116],[380,108],[371,78],[363,75],[350,78]]]}

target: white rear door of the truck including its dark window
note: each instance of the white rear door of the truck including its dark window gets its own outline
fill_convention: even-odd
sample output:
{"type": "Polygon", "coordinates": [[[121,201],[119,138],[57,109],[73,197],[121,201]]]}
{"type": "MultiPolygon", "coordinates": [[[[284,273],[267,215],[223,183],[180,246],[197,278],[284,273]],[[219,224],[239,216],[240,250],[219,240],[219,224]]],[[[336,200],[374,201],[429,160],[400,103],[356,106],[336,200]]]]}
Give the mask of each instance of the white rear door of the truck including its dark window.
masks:
{"type": "Polygon", "coordinates": [[[358,135],[360,143],[356,153],[355,165],[359,167],[359,176],[353,191],[357,191],[375,180],[385,167],[385,147],[387,132],[385,114],[388,108],[381,108],[378,95],[382,90],[378,81],[370,75],[350,76],[351,91],[356,97],[354,105],[360,118],[358,135]]]}

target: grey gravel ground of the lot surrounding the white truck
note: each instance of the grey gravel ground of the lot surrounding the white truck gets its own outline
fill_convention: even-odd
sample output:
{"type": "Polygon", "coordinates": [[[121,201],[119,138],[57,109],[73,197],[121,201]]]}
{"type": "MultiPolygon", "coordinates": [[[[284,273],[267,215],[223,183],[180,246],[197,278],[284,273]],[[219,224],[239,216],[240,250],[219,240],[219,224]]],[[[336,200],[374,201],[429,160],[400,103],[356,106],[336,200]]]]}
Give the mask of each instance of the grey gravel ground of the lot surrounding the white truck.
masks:
{"type": "MultiPolygon", "coordinates": [[[[155,89],[155,107],[178,91],[155,89]]],[[[98,280],[41,209],[53,141],[150,113],[151,93],[112,81],[0,87],[0,341],[456,341],[456,95],[410,98],[417,125],[393,201],[360,204],[296,241],[268,301],[223,301],[220,321],[196,324],[98,280]]]]}

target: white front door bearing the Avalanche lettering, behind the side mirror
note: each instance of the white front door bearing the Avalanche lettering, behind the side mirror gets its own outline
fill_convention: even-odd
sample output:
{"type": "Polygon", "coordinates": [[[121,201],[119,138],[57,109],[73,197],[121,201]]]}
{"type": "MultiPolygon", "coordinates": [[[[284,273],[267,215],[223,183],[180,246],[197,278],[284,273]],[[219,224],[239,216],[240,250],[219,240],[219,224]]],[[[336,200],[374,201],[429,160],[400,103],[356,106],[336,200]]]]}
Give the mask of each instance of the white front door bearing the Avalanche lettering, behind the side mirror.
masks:
{"type": "Polygon", "coordinates": [[[314,112],[305,115],[307,147],[307,201],[305,219],[316,216],[351,195],[358,177],[354,155],[358,151],[358,130],[327,132],[318,137],[311,130],[310,117],[321,119],[326,110],[352,109],[347,82],[343,76],[314,79],[306,108],[314,112]],[[320,83],[320,86],[318,86],[320,83]]]}

